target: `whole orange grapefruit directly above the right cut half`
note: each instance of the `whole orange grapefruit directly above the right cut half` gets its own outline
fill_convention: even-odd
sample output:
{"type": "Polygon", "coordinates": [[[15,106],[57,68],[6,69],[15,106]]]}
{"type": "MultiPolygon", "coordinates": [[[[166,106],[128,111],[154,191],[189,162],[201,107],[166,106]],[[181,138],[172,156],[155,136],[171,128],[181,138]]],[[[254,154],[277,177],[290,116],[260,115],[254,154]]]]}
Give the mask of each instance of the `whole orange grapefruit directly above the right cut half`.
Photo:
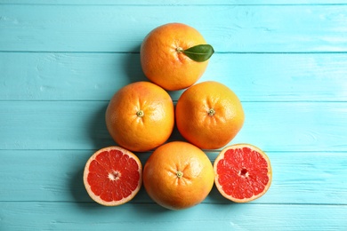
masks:
{"type": "Polygon", "coordinates": [[[238,96],[214,81],[195,84],[184,91],[177,101],[175,116],[182,137],[203,149],[227,145],[245,120],[238,96]]]}

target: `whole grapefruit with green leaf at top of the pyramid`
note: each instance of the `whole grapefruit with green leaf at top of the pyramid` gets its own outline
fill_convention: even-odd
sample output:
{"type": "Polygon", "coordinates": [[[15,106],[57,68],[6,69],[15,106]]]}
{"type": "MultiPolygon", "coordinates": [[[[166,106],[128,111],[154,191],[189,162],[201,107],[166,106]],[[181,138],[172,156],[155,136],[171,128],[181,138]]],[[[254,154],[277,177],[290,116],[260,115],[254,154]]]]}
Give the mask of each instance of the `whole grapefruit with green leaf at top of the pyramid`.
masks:
{"type": "Polygon", "coordinates": [[[168,91],[195,84],[214,53],[197,29],[182,23],[154,28],[143,39],[141,68],[151,82],[168,91]]]}

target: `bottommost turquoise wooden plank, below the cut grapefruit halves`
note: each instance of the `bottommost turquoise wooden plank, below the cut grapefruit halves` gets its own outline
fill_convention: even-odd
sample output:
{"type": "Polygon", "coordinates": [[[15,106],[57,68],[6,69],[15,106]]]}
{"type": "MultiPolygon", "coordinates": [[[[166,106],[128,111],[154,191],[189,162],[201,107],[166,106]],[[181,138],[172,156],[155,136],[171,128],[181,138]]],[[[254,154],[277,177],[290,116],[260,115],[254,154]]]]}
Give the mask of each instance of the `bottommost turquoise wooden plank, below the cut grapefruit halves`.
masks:
{"type": "Polygon", "coordinates": [[[4,230],[345,230],[346,206],[199,204],[166,211],[153,203],[0,203],[4,230]],[[314,212],[312,212],[314,211],[314,212]],[[332,212],[334,211],[334,212],[332,212]]]}

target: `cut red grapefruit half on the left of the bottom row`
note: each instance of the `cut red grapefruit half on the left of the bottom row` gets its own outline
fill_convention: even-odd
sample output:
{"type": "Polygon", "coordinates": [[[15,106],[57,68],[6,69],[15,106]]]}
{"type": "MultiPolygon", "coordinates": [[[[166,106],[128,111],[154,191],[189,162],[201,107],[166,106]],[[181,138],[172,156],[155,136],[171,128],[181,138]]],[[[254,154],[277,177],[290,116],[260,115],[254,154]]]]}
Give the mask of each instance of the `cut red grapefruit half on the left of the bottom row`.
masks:
{"type": "Polygon", "coordinates": [[[85,164],[83,180],[93,201],[117,206],[129,202],[139,192],[142,165],[136,155],[123,147],[104,147],[85,164]]]}

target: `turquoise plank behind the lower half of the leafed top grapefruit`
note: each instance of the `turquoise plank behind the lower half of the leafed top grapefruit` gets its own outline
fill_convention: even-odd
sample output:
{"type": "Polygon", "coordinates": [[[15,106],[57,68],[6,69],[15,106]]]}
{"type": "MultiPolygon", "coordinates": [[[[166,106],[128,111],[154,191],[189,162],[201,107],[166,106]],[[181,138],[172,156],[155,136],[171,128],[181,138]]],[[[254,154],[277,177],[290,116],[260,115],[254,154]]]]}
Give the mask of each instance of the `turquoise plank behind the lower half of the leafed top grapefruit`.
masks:
{"type": "MultiPolygon", "coordinates": [[[[109,100],[148,81],[138,53],[5,52],[0,60],[0,100],[109,100]]],[[[199,82],[226,84],[242,101],[346,101],[346,67],[345,53],[215,53],[199,82]]]]}

